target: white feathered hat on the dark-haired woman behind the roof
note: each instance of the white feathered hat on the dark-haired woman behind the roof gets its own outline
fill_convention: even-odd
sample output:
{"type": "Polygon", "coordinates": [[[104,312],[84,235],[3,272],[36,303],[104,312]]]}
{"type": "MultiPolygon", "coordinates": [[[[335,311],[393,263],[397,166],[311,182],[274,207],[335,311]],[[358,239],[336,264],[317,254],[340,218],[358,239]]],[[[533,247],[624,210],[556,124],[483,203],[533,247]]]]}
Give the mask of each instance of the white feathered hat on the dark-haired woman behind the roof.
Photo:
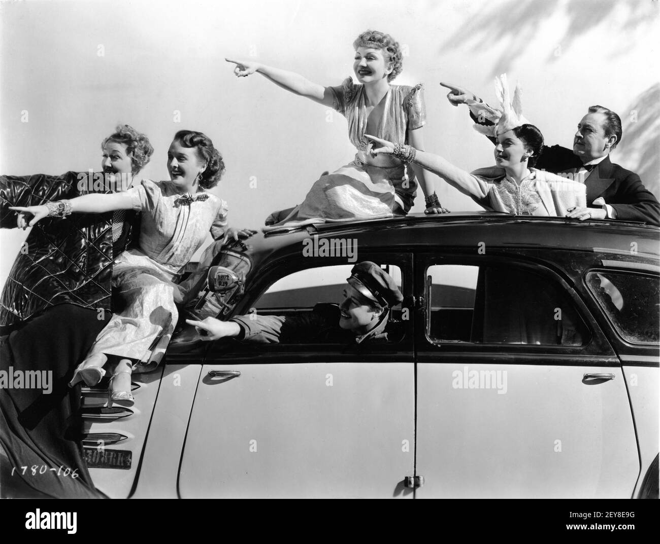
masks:
{"type": "Polygon", "coordinates": [[[490,107],[485,102],[476,100],[467,100],[466,104],[470,107],[476,117],[491,121],[492,125],[474,125],[475,130],[486,136],[497,136],[515,127],[531,124],[523,117],[523,104],[521,101],[522,90],[516,82],[513,91],[513,101],[510,98],[509,83],[506,74],[495,78],[495,93],[497,94],[502,109],[490,107]]]}

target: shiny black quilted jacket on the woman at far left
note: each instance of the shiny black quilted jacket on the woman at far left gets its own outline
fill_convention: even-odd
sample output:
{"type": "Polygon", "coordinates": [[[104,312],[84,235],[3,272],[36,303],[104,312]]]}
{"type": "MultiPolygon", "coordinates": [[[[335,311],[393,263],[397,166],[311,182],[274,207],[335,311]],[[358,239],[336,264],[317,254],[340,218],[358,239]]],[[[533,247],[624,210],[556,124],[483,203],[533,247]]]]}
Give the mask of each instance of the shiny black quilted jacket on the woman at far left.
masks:
{"type": "MultiPolygon", "coordinates": [[[[84,176],[73,171],[0,176],[0,227],[16,227],[16,212],[9,206],[99,192],[84,189],[84,176]]],[[[112,213],[45,218],[32,227],[0,296],[0,326],[16,325],[62,303],[112,311],[112,213]]],[[[139,214],[128,212],[127,219],[122,251],[139,231],[139,214]]]]}

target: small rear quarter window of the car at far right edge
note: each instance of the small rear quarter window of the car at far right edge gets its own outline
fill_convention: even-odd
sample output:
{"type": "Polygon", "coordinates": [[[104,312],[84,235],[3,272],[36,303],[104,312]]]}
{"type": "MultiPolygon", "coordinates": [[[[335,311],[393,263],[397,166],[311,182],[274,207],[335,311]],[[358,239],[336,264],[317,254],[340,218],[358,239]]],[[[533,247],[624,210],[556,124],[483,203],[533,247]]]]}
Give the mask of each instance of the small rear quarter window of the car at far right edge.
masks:
{"type": "Polygon", "coordinates": [[[587,286],[618,334],[633,344],[660,340],[660,278],[634,272],[592,271],[587,286]]]}

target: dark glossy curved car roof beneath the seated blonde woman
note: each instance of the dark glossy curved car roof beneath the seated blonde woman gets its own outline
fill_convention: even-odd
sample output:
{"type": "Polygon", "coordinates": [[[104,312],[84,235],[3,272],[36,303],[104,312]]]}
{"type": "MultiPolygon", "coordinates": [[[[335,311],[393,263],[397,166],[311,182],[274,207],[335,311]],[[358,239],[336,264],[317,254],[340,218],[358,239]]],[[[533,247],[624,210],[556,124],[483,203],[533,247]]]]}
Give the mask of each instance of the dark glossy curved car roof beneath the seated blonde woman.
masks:
{"type": "Polygon", "coordinates": [[[394,218],[317,223],[286,232],[259,233],[247,243],[253,266],[301,253],[305,239],[356,239],[370,251],[432,251],[433,248],[514,247],[569,249],[660,258],[660,228],[614,220],[579,222],[560,217],[500,212],[408,214],[394,218]],[[634,252],[634,253],[633,253],[634,252]]]}

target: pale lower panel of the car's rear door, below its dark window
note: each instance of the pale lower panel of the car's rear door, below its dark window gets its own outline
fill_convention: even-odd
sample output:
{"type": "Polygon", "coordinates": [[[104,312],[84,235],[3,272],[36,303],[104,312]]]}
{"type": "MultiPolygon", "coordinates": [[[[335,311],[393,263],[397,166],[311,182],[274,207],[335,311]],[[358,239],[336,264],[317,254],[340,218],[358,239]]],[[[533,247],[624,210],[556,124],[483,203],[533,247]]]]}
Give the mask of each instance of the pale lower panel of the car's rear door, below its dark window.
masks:
{"type": "Polygon", "coordinates": [[[417,372],[417,498],[632,496],[640,465],[620,368],[418,363],[417,372]],[[466,367],[506,372],[506,393],[454,387],[466,367]],[[585,373],[614,379],[585,384],[585,373]]]}

